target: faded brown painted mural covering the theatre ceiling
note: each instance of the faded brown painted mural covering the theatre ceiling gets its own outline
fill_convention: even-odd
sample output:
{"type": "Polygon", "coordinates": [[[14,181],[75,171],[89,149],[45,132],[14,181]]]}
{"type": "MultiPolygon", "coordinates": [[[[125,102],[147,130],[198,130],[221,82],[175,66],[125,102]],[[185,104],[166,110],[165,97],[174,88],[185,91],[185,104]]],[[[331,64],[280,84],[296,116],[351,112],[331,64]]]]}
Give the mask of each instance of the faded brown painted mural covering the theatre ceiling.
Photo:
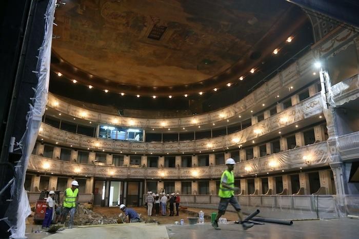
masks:
{"type": "Polygon", "coordinates": [[[111,81],[170,86],[241,60],[290,4],[283,0],[72,0],[56,10],[53,49],[111,81]]]}

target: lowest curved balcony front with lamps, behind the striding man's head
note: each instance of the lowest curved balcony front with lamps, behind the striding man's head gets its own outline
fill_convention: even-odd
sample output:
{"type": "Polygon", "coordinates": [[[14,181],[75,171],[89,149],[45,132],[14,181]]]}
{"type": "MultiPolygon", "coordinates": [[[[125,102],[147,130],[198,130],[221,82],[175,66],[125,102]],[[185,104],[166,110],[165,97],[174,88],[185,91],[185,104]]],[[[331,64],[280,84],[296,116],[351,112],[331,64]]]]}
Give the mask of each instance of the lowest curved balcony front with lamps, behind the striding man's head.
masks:
{"type": "MultiPolygon", "coordinates": [[[[354,145],[355,146],[355,145],[354,145]]],[[[323,166],[330,162],[327,142],[307,145],[282,153],[268,155],[237,163],[234,167],[236,177],[255,173],[280,172],[300,167],[323,166]]],[[[31,155],[28,170],[69,176],[112,177],[118,179],[219,179],[225,165],[185,167],[185,168],[146,168],[117,167],[81,164],[31,155]],[[46,168],[46,169],[45,169],[46,168]]]]}

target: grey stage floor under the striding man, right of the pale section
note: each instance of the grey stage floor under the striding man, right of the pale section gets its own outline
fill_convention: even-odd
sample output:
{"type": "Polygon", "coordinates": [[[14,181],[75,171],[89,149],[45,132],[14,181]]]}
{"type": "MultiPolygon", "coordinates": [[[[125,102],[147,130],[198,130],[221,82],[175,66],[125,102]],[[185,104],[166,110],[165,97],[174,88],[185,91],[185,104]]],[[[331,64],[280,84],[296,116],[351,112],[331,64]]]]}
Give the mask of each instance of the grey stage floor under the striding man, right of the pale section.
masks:
{"type": "Polygon", "coordinates": [[[205,225],[167,226],[169,238],[358,238],[359,220],[331,219],[317,221],[295,221],[292,226],[266,223],[254,225],[247,231],[237,224],[220,224],[222,230],[205,225]]]}

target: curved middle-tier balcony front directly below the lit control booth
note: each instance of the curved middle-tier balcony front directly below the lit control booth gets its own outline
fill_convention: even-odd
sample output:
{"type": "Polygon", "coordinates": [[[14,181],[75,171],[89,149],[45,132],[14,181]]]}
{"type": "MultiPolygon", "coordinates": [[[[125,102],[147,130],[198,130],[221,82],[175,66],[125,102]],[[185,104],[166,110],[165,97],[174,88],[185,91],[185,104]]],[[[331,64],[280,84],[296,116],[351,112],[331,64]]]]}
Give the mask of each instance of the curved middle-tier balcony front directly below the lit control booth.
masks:
{"type": "Polygon", "coordinates": [[[39,138],[46,138],[59,144],[74,145],[91,149],[105,149],[106,151],[124,153],[170,153],[178,154],[198,153],[198,151],[225,149],[226,147],[243,144],[247,141],[257,139],[277,129],[300,122],[312,116],[322,113],[321,95],[318,93],[287,110],[269,117],[257,124],[227,136],[216,137],[205,140],[173,143],[141,143],[100,139],[88,136],[80,136],[70,132],[62,131],[47,124],[42,124],[39,138]]]}

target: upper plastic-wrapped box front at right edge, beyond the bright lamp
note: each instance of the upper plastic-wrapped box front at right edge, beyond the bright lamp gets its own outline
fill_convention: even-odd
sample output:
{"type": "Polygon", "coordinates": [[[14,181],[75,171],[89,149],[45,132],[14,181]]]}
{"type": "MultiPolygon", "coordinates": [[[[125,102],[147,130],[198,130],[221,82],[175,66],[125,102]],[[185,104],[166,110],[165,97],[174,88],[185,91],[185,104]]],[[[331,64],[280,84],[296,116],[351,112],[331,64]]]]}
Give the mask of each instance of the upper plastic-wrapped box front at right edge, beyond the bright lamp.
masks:
{"type": "Polygon", "coordinates": [[[331,87],[334,106],[341,106],[359,98],[359,75],[352,76],[331,87]]]}

